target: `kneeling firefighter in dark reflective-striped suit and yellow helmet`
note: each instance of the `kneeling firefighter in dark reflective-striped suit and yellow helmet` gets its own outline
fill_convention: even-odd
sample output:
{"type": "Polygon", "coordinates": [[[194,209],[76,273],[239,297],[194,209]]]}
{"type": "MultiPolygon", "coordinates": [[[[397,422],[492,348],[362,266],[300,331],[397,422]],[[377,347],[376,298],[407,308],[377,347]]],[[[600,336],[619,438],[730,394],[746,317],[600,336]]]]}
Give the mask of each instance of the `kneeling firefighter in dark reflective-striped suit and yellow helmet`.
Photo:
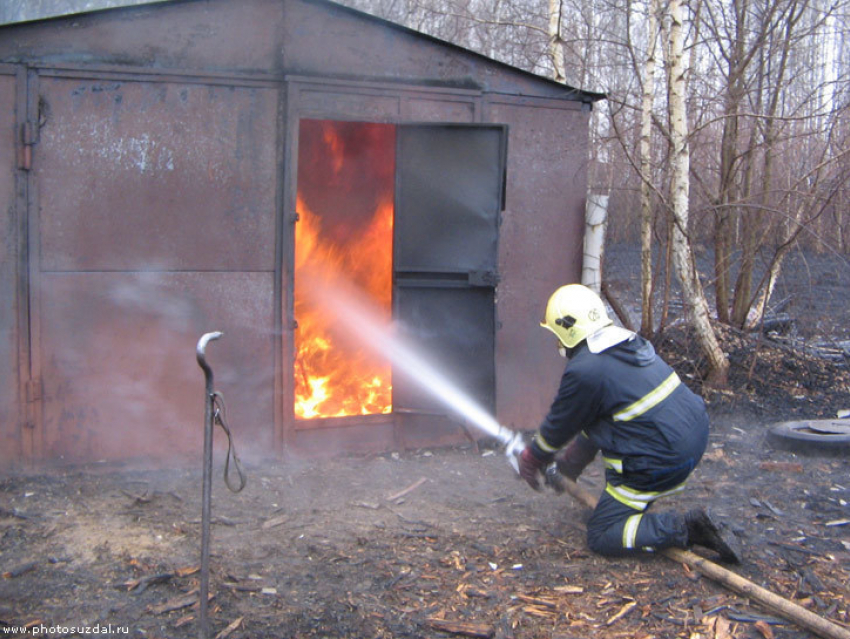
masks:
{"type": "Polygon", "coordinates": [[[708,442],[708,415],[639,335],[614,326],[600,297],[580,284],[559,288],[541,326],[569,359],[557,396],[520,455],[535,490],[553,460],[572,480],[602,451],[606,486],[587,523],[590,549],[629,556],[697,544],[730,563],[737,541],[704,509],[649,512],[680,492],[708,442]]]}

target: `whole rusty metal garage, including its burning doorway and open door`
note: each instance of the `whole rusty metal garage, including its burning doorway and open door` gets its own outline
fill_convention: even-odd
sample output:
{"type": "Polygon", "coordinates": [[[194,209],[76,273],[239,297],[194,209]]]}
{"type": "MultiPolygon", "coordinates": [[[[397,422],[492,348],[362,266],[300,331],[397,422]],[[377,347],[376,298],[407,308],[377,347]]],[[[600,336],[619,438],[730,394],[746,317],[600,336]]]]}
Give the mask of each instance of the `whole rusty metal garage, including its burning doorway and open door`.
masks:
{"type": "Polygon", "coordinates": [[[476,436],[340,287],[501,423],[545,411],[602,96],[330,2],[236,4],[0,28],[9,467],[194,456],[213,330],[246,453],[476,436]]]}

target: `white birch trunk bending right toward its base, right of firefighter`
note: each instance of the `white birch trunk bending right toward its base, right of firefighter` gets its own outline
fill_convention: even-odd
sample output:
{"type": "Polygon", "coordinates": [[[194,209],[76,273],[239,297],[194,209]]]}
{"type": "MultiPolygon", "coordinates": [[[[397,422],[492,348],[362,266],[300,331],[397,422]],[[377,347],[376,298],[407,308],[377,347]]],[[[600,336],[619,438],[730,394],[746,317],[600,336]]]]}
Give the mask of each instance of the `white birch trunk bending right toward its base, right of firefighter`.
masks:
{"type": "Polygon", "coordinates": [[[690,196],[690,151],[688,147],[688,121],[685,106],[685,69],[683,65],[684,35],[681,0],[669,0],[670,18],[667,46],[667,77],[669,84],[670,138],[672,153],[673,229],[671,243],[673,261],[682,285],[685,305],[709,363],[706,383],[714,386],[726,384],[729,360],[720,348],[717,336],[709,321],[708,302],[697,275],[693,252],[688,243],[688,199],[690,196]]]}

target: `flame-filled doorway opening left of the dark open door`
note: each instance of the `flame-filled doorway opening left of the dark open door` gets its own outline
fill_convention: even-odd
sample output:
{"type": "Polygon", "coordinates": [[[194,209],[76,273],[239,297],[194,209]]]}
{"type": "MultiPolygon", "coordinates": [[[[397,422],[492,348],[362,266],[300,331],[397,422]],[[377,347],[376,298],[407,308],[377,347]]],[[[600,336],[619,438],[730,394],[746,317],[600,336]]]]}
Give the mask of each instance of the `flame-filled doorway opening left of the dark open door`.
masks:
{"type": "Polygon", "coordinates": [[[389,361],[347,339],[311,295],[353,288],[392,315],[395,126],[302,120],[295,235],[295,401],[298,420],[392,412],[389,361]]]}

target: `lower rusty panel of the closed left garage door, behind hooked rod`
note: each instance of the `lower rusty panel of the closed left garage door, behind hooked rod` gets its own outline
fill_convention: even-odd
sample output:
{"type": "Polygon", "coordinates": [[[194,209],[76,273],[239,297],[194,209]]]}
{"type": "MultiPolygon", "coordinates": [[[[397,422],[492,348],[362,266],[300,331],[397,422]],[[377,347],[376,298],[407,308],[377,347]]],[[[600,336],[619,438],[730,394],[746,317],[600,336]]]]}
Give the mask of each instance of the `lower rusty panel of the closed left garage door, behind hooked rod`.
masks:
{"type": "MultiPolygon", "coordinates": [[[[240,455],[267,456],[274,437],[273,275],[85,273],[42,282],[45,457],[200,459],[210,348],[240,455]]],[[[225,444],[217,433],[217,449],[225,444]]]]}

